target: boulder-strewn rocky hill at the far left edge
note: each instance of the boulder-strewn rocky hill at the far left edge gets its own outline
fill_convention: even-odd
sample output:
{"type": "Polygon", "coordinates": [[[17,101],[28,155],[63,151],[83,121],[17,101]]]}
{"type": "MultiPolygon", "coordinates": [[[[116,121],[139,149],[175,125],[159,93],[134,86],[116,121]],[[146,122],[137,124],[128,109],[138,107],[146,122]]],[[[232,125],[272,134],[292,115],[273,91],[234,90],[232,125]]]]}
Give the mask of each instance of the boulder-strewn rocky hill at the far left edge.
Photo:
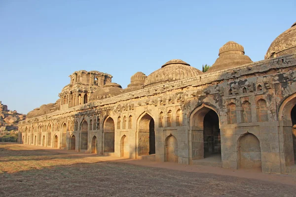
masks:
{"type": "Polygon", "coordinates": [[[8,110],[7,105],[0,101],[0,142],[16,141],[18,122],[25,119],[26,115],[17,113],[16,110],[8,110]]]}

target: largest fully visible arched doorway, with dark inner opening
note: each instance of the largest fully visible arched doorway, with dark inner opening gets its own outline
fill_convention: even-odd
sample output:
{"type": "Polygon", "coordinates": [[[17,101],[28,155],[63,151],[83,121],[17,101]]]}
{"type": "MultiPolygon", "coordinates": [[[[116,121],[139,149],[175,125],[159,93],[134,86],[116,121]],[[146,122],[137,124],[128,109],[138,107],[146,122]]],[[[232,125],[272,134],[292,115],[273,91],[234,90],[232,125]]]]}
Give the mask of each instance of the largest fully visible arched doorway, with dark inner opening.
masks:
{"type": "Polygon", "coordinates": [[[212,158],[221,162],[219,116],[204,104],[190,118],[192,160],[212,158]]]}

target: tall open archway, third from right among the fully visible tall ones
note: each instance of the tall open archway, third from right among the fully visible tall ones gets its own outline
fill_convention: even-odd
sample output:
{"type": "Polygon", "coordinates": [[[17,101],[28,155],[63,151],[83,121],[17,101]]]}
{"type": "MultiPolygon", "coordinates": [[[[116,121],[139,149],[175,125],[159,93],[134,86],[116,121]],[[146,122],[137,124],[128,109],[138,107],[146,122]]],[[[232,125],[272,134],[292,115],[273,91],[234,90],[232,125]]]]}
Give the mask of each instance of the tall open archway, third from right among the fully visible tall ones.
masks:
{"type": "Polygon", "coordinates": [[[104,152],[114,152],[114,121],[108,117],[104,123],[104,152]]]}

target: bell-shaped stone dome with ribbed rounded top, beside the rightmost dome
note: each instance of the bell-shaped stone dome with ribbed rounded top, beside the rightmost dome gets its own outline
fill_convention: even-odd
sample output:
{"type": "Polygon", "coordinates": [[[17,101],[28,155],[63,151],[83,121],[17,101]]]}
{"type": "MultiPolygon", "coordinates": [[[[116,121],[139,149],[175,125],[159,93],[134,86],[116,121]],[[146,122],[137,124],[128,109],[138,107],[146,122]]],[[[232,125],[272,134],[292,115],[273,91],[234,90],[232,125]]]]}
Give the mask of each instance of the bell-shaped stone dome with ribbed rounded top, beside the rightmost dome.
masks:
{"type": "Polygon", "coordinates": [[[209,67],[207,72],[215,72],[226,68],[245,65],[253,61],[245,55],[244,47],[236,42],[226,42],[219,49],[219,58],[209,67]]]}

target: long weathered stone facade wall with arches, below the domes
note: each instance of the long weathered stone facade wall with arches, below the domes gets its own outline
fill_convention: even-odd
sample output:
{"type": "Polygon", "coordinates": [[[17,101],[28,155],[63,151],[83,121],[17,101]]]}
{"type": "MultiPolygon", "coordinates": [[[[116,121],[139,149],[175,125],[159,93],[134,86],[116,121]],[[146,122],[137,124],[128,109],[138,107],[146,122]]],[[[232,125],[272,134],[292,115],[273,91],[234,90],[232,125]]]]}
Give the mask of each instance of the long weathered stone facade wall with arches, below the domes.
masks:
{"type": "Polygon", "coordinates": [[[70,139],[74,135],[79,151],[81,141],[86,141],[80,134],[87,133],[88,152],[96,136],[98,154],[142,158],[154,155],[151,147],[155,144],[159,162],[192,164],[207,159],[205,153],[211,150],[220,155],[225,168],[261,166],[263,172],[286,173],[287,166],[294,165],[291,110],[296,104],[295,68],[293,54],[205,73],[22,121],[19,131],[24,138],[32,133],[34,137],[37,133],[32,128],[41,125],[39,138],[44,136],[44,146],[52,147],[54,136],[61,138],[65,122],[66,149],[74,149],[70,139]],[[205,123],[210,112],[217,115],[217,123],[205,123]],[[83,132],[82,121],[88,125],[83,132]]]}

